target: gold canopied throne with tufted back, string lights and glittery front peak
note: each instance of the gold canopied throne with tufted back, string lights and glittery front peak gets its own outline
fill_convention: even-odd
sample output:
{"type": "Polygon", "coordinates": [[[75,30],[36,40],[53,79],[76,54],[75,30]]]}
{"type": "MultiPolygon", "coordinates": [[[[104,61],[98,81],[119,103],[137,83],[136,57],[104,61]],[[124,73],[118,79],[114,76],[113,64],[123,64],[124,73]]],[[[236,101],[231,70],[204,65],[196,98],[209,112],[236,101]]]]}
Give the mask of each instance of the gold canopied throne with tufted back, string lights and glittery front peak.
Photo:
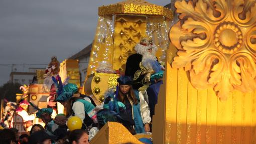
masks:
{"type": "MultiPolygon", "coordinates": [[[[156,57],[165,62],[173,13],[146,1],[129,0],[99,7],[98,15],[83,90],[101,103],[108,89],[115,90],[116,79],[125,72],[126,60],[137,53],[135,46],[143,37],[153,38],[158,48],[156,57]]],[[[108,123],[90,143],[142,143],[138,140],[141,137],[151,137],[151,134],[133,136],[122,125],[108,123]]]]}

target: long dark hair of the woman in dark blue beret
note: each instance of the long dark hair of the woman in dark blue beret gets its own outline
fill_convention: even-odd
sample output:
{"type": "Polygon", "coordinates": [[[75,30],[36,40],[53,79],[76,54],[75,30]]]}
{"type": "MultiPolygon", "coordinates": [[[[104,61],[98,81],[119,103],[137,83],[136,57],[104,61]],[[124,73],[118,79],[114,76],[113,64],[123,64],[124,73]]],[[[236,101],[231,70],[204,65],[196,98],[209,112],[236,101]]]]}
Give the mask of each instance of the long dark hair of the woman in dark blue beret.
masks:
{"type": "Polygon", "coordinates": [[[133,104],[137,105],[138,104],[138,99],[136,98],[135,96],[135,93],[134,93],[134,90],[133,90],[133,87],[132,85],[130,85],[130,89],[129,89],[129,92],[128,92],[128,95],[126,96],[125,94],[123,94],[121,92],[121,89],[120,89],[120,86],[118,88],[118,94],[116,96],[116,98],[122,102],[122,103],[125,103],[125,99],[130,99],[132,100],[133,104]]]}

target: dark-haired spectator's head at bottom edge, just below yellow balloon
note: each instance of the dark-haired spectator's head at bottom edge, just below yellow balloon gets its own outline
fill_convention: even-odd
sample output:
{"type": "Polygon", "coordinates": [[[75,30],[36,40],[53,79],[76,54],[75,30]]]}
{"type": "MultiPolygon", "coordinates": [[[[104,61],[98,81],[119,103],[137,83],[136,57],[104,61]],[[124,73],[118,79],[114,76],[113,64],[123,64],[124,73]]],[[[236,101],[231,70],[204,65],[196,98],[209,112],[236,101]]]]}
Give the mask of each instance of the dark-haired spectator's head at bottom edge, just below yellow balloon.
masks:
{"type": "Polygon", "coordinates": [[[70,144],[89,144],[88,134],[83,129],[75,129],[71,131],[68,140],[70,144]]]}

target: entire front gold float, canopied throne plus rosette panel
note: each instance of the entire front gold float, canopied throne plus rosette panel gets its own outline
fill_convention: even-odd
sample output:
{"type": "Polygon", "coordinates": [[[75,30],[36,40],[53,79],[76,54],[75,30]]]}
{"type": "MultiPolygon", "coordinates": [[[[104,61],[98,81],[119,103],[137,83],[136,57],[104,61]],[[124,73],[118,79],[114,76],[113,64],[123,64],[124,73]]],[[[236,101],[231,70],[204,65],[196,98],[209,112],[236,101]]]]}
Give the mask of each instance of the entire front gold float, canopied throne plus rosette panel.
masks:
{"type": "MultiPolygon", "coordinates": [[[[180,20],[169,32],[153,143],[254,143],[255,2],[178,1],[175,7],[180,20]]],[[[167,11],[144,1],[100,7],[87,78],[96,75],[101,61],[122,73],[139,41],[131,32],[150,34],[147,17],[159,12],[156,16],[171,20],[167,11]]],[[[140,143],[120,127],[106,124],[91,143],[140,143]]]]}

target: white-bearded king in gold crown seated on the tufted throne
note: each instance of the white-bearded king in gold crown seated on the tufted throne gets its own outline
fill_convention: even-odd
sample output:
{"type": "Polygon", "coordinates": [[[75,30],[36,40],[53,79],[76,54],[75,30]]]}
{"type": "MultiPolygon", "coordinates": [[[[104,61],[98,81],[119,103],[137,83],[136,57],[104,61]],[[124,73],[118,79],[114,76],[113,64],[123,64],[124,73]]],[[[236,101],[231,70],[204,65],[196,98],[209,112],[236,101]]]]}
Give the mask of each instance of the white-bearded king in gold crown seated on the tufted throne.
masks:
{"type": "Polygon", "coordinates": [[[155,56],[157,49],[151,37],[143,37],[135,46],[137,54],[127,59],[125,68],[125,75],[133,78],[133,88],[145,93],[151,116],[154,114],[164,70],[155,56]]]}

